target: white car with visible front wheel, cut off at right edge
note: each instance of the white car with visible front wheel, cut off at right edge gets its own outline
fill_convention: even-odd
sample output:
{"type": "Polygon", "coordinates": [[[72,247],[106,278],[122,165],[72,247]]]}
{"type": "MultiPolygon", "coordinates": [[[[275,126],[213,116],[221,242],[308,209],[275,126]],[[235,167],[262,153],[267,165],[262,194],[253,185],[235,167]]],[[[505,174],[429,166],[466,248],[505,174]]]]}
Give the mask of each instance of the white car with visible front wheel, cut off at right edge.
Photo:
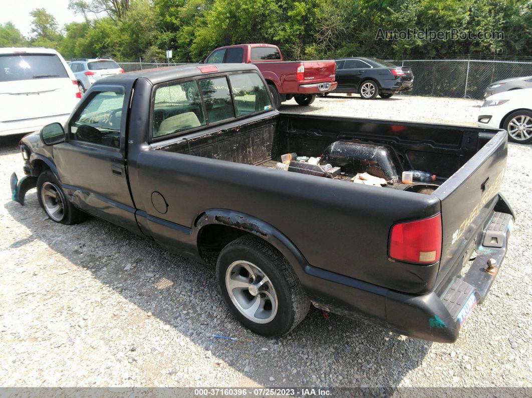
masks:
{"type": "Polygon", "coordinates": [[[487,97],[480,108],[477,124],[504,129],[513,142],[532,142],[532,88],[487,97]]]}

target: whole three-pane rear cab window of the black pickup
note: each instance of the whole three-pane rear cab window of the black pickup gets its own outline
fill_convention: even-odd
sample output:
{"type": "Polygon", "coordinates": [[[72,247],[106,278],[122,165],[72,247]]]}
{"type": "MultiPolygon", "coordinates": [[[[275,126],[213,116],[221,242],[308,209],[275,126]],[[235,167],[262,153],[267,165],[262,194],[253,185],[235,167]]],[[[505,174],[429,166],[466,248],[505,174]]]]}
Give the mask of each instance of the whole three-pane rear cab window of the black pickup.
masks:
{"type": "Polygon", "coordinates": [[[256,72],[162,84],[153,98],[152,140],[272,109],[256,72]]]}

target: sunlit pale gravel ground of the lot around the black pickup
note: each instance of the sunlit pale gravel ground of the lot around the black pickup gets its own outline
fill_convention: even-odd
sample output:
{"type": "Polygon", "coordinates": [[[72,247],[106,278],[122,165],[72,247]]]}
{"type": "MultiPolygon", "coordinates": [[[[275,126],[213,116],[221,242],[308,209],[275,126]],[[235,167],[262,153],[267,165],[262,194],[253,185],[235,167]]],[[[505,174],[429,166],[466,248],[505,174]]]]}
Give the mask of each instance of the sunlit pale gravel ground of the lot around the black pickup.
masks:
{"type": "MultiPolygon", "coordinates": [[[[282,110],[463,124],[478,104],[329,96],[282,110]]],[[[19,139],[0,138],[1,386],[531,386],[531,146],[509,146],[502,191],[518,218],[504,266],[448,345],[316,309],[288,336],[254,335],[210,267],[98,219],[53,223],[35,190],[11,201],[19,139]]]]}

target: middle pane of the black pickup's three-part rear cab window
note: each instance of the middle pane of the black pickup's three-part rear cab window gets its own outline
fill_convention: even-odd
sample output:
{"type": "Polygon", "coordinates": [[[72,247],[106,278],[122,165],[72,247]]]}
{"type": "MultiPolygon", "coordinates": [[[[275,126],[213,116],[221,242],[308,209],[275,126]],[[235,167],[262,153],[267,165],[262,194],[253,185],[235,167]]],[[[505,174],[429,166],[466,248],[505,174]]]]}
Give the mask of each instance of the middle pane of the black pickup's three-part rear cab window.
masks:
{"type": "Polygon", "coordinates": [[[225,77],[201,80],[200,89],[209,123],[235,117],[235,108],[232,104],[231,92],[225,77]]]}

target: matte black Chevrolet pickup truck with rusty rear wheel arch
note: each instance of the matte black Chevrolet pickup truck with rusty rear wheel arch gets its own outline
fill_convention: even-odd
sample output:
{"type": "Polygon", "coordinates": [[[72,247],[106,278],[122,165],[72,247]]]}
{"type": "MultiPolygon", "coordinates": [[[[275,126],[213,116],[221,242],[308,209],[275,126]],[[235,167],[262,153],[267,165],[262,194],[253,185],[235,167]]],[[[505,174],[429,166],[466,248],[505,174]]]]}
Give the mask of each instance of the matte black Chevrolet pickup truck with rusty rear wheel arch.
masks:
{"type": "Polygon", "coordinates": [[[499,193],[506,132],[279,113],[254,65],[98,80],[64,126],[24,137],[21,150],[14,200],[37,187],[55,222],[90,214],[212,262],[229,309],[268,336],[288,333],[312,303],[454,342],[513,224],[499,193]],[[290,153],[341,173],[292,172],[294,161],[282,170],[290,153]],[[403,184],[412,169],[435,180],[403,184]],[[355,183],[361,172],[387,183],[355,183]]]}

